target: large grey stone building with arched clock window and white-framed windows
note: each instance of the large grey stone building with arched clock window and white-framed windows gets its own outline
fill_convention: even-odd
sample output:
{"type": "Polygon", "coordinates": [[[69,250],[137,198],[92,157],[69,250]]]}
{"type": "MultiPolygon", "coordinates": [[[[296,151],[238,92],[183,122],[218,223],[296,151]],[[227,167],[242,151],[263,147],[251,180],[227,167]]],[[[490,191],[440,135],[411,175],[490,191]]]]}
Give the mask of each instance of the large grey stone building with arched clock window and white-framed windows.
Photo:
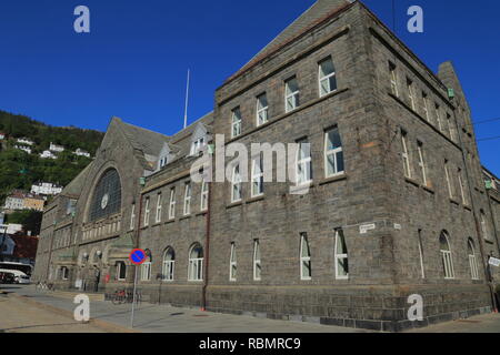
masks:
{"type": "Polygon", "coordinates": [[[113,119],[96,160],[46,209],[36,277],[112,292],[131,285],[128,255],[141,247],[150,302],[424,326],[493,307],[489,194],[452,64],[433,73],[359,1],[319,0],[189,128],[167,136],[113,119]],[[262,182],[261,154],[231,161],[226,182],[194,181],[200,154],[217,165],[232,143],[298,143],[307,193],[262,182]],[[422,321],[407,317],[413,294],[422,321]]]}

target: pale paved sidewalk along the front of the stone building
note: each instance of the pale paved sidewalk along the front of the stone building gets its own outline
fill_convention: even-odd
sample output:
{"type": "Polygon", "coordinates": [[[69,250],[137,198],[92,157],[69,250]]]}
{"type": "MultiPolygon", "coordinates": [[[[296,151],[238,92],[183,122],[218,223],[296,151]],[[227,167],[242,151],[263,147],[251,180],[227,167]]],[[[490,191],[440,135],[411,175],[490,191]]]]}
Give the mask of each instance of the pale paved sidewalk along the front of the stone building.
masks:
{"type": "MultiPolygon", "coordinates": [[[[24,296],[31,302],[67,312],[76,305],[68,294],[38,292],[33,285],[12,285],[4,291],[16,293],[9,297],[24,296]],[[58,297],[54,297],[59,294],[58,297]],[[61,297],[62,296],[62,297],[61,297]]],[[[143,303],[136,308],[134,331],[144,333],[367,333],[368,331],[314,323],[273,321],[243,315],[201,312],[143,303]]],[[[131,304],[113,305],[111,302],[91,301],[90,317],[130,331],[131,304]]]]}

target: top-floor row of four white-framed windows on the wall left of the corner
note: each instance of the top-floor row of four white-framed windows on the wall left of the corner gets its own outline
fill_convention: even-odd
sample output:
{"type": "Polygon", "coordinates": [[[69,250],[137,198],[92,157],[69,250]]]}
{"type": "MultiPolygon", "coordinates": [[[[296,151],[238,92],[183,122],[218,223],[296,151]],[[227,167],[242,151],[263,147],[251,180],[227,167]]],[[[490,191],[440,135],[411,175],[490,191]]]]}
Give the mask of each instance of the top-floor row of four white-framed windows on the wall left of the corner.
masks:
{"type": "MultiPolygon", "coordinates": [[[[333,60],[331,57],[318,63],[318,85],[320,97],[324,97],[337,90],[337,77],[333,60]]],[[[256,98],[256,124],[257,126],[269,121],[269,102],[267,93],[261,93],[256,98]]],[[[300,88],[297,77],[284,81],[284,112],[291,112],[300,105],[300,88]]],[[[231,138],[237,138],[242,133],[242,115],[240,108],[234,108],[231,112],[231,138]]]]}

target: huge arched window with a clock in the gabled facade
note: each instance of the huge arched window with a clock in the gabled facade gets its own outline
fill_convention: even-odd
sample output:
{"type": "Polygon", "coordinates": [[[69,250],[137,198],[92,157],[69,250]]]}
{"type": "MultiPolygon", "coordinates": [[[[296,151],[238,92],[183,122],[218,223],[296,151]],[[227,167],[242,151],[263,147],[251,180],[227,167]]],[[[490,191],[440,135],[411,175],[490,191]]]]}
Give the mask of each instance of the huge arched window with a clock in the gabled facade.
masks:
{"type": "Polygon", "coordinates": [[[107,170],[98,184],[90,205],[90,222],[106,219],[120,212],[121,209],[121,182],[118,171],[107,170]]]}

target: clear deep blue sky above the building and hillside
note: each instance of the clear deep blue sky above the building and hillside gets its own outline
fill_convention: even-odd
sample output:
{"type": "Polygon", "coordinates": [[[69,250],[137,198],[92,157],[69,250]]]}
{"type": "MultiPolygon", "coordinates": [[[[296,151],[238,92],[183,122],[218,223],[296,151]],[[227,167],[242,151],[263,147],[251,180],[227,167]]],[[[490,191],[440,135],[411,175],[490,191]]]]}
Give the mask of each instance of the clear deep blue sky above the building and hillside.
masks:
{"type": "MultiPolygon", "coordinates": [[[[172,134],[182,126],[186,74],[190,121],[213,93],[313,0],[31,0],[0,3],[0,109],[53,125],[104,131],[109,119],[172,134]],[[73,31],[73,9],[91,11],[91,33],[73,31]]],[[[366,0],[392,27],[391,0],[366,0]]],[[[452,60],[473,119],[500,118],[500,2],[397,0],[398,36],[432,69],[452,60]],[[424,33],[406,30],[424,10],[424,33]]],[[[476,126],[500,135],[500,121],[476,126]]],[[[500,140],[480,142],[500,174],[500,140]]]]}

